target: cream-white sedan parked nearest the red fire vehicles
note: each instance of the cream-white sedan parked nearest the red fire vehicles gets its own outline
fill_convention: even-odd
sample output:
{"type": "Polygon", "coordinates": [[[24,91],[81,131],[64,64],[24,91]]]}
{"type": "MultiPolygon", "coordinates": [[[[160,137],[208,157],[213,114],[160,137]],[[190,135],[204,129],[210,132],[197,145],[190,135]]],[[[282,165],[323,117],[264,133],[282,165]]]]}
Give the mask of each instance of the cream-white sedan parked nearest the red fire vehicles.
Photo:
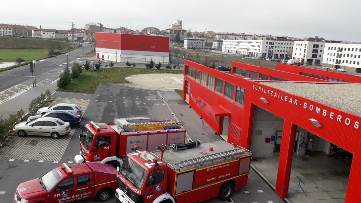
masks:
{"type": "Polygon", "coordinates": [[[26,135],[42,135],[58,139],[62,135],[69,134],[70,123],[64,122],[59,118],[45,117],[16,124],[13,127],[13,131],[15,134],[18,134],[19,137],[25,137],[26,135]]]}

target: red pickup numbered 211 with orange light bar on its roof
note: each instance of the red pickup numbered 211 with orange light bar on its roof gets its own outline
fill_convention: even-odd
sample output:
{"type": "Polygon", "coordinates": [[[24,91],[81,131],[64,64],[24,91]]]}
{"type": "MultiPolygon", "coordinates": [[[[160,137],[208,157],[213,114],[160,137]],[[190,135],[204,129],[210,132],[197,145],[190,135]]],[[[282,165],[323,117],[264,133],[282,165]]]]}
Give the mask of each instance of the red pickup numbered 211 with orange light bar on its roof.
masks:
{"type": "Polygon", "coordinates": [[[104,202],[117,188],[117,170],[109,164],[81,163],[55,168],[44,176],[21,183],[16,203],[65,203],[96,198],[104,202]]]}

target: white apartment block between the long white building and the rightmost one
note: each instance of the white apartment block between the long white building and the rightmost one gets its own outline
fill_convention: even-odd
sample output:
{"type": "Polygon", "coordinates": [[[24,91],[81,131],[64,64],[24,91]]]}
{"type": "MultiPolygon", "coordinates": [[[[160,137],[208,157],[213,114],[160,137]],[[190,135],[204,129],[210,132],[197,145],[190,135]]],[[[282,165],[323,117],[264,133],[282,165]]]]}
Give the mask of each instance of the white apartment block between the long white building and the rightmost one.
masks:
{"type": "Polygon", "coordinates": [[[305,65],[322,65],[325,42],[293,42],[292,59],[305,65]]]}

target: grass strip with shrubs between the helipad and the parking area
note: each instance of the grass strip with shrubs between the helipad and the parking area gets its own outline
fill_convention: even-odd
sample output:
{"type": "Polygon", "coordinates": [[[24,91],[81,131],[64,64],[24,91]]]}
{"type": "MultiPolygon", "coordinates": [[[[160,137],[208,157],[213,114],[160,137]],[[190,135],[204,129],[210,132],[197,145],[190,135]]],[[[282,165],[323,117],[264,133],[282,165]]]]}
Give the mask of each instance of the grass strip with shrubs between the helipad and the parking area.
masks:
{"type": "Polygon", "coordinates": [[[83,70],[79,78],[73,79],[66,89],[58,88],[57,91],[81,92],[93,94],[100,82],[104,83],[129,83],[125,78],[129,75],[146,73],[177,73],[182,70],[158,70],[145,68],[103,68],[98,71],[83,70]],[[104,70],[104,74],[102,74],[104,70]]]}

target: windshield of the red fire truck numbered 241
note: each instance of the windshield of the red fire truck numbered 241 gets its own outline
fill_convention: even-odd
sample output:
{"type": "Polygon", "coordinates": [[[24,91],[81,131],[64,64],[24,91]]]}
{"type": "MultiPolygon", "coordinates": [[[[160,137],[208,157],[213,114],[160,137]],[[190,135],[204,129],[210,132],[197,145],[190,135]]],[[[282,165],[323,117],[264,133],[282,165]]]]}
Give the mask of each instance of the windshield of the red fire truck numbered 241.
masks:
{"type": "Polygon", "coordinates": [[[147,171],[133,160],[126,157],[120,170],[121,175],[133,186],[140,189],[147,175],[147,171]]]}

